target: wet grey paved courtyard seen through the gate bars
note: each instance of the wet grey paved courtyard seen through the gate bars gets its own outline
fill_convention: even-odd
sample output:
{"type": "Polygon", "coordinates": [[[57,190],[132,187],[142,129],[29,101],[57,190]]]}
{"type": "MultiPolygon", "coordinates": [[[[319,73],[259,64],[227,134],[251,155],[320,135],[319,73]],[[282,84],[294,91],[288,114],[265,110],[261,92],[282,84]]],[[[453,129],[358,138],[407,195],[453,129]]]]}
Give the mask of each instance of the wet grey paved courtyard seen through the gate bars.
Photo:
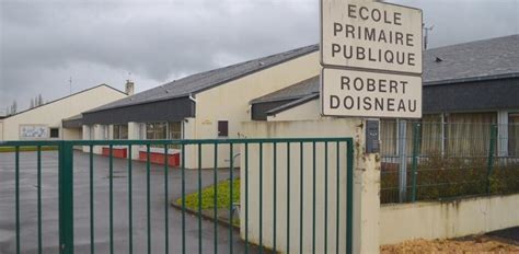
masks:
{"type": "MultiPolygon", "coordinates": [[[[37,170],[36,153],[23,152],[20,155],[20,213],[22,253],[37,252],[37,170]]],[[[42,220],[44,253],[58,252],[58,153],[43,152],[42,160],[42,220]]],[[[128,162],[114,159],[114,245],[115,253],[128,253],[128,162]]],[[[134,253],[147,251],[147,209],[146,164],[134,162],[132,168],[132,222],[134,253]]],[[[15,182],[14,153],[0,153],[0,253],[15,253],[15,182]]],[[[89,157],[74,152],[74,245],[76,253],[90,253],[90,185],[89,157]]],[[[234,175],[239,172],[235,171],[234,175]]],[[[197,171],[185,171],[186,193],[197,189],[197,171]]],[[[201,172],[203,185],[211,185],[214,171],[201,172]]],[[[229,170],[218,172],[219,181],[228,178],[229,170]]],[[[169,171],[170,199],[181,196],[181,170],[169,171]]],[[[151,166],[151,252],[164,253],[164,168],[151,166]]],[[[94,158],[94,233],[96,253],[108,253],[108,159],[94,158]]],[[[170,253],[182,251],[182,212],[168,206],[170,253]]],[[[186,213],[187,253],[197,252],[198,219],[186,213]]],[[[229,252],[229,229],[218,226],[218,251],[229,252]]],[[[214,252],[214,223],[203,220],[203,253],[214,252]]],[[[244,252],[244,243],[239,232],[233,232],[232,244],[235,253],[244,252]]]]}

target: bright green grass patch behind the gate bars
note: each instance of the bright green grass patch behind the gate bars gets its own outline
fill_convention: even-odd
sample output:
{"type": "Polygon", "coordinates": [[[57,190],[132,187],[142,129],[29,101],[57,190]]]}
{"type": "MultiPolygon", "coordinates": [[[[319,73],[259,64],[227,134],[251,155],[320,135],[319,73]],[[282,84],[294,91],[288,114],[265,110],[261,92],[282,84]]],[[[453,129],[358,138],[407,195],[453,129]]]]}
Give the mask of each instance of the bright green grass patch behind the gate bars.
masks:
{"type": "MultiPolygon", "coordinates": [[[[228,208],[231,203],[240,201],[240,178],[232,181],[232,201],[230,198],[230,181],[226,180],[216,185],[217,208],[228,208]]],[[[186,208],[198,209],[198,192],[186,195],[186,208]]],[[[182,206],[182,198],[176,199],[176,205],[182,206]]],[[[201,189],[201,209],[215,208],[215,185],[201,189]]]]}

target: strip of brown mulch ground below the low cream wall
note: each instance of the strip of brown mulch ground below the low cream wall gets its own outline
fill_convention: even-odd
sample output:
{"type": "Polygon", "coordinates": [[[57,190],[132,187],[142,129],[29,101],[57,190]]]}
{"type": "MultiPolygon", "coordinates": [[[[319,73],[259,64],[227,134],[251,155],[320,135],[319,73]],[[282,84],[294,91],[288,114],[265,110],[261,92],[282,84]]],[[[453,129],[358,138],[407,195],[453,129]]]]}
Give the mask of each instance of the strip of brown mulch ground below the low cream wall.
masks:
{"type": "Polygon", "coordinates": [[[380,247],[381,254],[411,254],[411,253],[517,253],[519,242],[497,236],[480,235],[460,240],[414,240],[395,245],[380,247]]]}

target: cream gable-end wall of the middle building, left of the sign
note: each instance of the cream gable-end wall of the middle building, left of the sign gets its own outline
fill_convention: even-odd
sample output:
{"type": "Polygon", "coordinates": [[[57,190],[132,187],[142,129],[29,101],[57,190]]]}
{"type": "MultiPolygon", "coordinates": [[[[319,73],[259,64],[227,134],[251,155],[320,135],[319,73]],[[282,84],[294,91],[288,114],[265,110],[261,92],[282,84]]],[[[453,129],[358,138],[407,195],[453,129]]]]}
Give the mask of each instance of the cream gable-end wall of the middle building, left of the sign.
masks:
{"type": "MultiPolygon", "coordinates": [[[[319,53],[312,53],[257,71],[223,85],[196,94],[196,139],[218,138],[218,120],[229,122],[229,138],[241,137],[241,123],[251,119],[253,99],[315,77],[320,72],[319,53]]],[[[203,149],[203,166],[214,166],[214,148],[203,149]]],[[[187,168],[196,168],[196,150],[188,152],[187,168]]],[[[220,146],[219,166],[229,166],[229,146],[220,146]]]]}

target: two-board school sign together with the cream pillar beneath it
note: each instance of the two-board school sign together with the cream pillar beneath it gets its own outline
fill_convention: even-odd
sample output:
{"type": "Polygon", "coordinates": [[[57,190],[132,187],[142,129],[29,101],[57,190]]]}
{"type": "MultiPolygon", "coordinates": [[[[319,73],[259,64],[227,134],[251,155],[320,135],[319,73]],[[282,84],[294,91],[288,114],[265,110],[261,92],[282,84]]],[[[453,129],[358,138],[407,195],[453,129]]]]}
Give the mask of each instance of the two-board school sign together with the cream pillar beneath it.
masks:
{"type": "MultiPolygon", "coordinates": [[[[356,218],[346,222],[355,233],[346,253],[379,252],[380,123],[369,118],[422,118],[422,10],[414,8],[321,0],[321,113],[368,118],[366,138],[359,138],[362,154],[355,161],[357,198],[348,209],[356,218]]],[[[406,163],[401,161],[401,190],[406,163]]]]}

